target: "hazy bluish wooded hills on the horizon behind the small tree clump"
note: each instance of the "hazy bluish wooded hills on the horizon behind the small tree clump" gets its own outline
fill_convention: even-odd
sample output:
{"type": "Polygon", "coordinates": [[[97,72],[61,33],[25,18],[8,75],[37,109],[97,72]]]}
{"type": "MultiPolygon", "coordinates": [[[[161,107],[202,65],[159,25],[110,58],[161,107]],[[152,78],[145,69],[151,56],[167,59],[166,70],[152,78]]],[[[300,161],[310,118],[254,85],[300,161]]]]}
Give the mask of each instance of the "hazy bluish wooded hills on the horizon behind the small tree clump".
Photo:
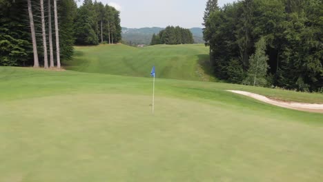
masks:
{"type": "MultiPolygon", "coordinates": [[[[153,34],[157,34],[164,28],[152,27],[152,28],[122,28],[122,40],[130,45],[145,44],[149,45],[153,34]]],[[[202,28],[190,28],[195,43],[204,43],[203,41],[203,29],[202,28]]]]}

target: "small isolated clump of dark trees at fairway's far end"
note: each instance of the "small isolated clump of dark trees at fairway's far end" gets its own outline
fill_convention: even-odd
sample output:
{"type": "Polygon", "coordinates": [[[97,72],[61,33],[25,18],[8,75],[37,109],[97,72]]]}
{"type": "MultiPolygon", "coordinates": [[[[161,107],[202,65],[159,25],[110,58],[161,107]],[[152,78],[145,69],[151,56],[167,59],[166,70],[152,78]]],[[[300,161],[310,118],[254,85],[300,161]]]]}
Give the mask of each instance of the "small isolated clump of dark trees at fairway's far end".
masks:
{"type": "Polygon", "coordinates": [[[194,43],[192,32],[189,29],[180,28],[179,26],[168,26],[164,30],[161,30],[159,34],[153,34],[150,45],[176,45],[185,43],[194,43]]]}

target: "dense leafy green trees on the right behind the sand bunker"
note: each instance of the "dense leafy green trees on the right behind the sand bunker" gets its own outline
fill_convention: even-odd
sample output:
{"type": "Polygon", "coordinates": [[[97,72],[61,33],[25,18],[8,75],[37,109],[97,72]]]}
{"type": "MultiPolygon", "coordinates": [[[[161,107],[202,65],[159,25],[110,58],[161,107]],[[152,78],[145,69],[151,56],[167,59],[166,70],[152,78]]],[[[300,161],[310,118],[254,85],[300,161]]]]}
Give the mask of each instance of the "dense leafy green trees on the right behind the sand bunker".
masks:
{"type": "Polygon", "coordinates": [[[204,40],[219,79],[323,92],[322,0],[208,0],[204,40]]]}

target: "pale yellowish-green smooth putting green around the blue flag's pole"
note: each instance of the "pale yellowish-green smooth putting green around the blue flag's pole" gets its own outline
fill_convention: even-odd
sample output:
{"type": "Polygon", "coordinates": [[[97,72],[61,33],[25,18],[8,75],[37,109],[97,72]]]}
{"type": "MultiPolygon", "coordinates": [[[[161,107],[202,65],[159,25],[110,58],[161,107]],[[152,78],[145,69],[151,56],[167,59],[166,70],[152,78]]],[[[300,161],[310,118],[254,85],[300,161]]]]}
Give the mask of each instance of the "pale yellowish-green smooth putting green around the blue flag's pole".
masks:
{"type": "Polygon", "coordinates": [[[153,115],[150,100],[77,94],[2,103],[0,181],[323,177],[322,128],[169,97],[157,97],[153,115]]]}

